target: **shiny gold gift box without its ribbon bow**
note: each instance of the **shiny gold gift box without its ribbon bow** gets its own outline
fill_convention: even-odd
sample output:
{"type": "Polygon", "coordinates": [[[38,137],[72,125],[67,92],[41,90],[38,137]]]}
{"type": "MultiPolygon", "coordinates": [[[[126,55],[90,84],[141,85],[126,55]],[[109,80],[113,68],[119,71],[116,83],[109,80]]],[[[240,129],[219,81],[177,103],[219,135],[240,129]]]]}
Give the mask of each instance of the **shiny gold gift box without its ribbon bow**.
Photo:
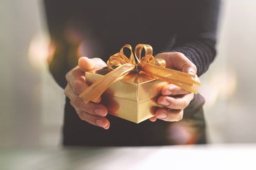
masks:
{"type": "MultiPolygon", "coordinates": [[[[110,72],[107,67],[85,72],[85,79],[91,85],[110,72]]],[[[121,80],[115,81],[102,94],[101,103],[107,107],[108,113],[119,118],[141,123],[154,116],[157,98],[161,89],[168,84],[165,81],[150,77],[144,72],[131,72],[121,80]]]]}

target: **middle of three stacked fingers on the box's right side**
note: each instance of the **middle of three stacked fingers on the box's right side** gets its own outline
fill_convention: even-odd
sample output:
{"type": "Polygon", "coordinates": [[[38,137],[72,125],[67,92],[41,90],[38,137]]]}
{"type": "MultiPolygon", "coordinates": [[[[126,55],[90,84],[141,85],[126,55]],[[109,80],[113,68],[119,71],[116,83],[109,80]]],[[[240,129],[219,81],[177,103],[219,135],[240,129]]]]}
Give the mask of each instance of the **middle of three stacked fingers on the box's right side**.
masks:
{"type": "Polygon", "coordinates": [[[171,97],[171,96],[160,96],[157,102],[165,106],[166,108],[171,109],[184,109],[188,106],[188,104],[192,101],[193,94],[185,94],[181,96],[171,97]]]}

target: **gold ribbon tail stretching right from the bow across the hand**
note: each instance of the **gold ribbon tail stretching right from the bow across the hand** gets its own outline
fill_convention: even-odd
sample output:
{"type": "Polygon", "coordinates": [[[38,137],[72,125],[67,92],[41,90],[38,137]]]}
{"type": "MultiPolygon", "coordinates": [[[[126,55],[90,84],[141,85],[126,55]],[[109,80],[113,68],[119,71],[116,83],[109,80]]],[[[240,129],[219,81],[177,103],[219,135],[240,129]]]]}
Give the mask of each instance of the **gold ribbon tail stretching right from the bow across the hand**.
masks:
{"type": "Polygon", "coordinates": [[[194,94],[198,94],[201,85],[200,80],[193,74],[179,72],[174,69],[166,69],[154,64],[142,62],[142,71],[152,77],[169,82],[194,94]],[[197,80],[196,80],[197,79],[197,80]]]}

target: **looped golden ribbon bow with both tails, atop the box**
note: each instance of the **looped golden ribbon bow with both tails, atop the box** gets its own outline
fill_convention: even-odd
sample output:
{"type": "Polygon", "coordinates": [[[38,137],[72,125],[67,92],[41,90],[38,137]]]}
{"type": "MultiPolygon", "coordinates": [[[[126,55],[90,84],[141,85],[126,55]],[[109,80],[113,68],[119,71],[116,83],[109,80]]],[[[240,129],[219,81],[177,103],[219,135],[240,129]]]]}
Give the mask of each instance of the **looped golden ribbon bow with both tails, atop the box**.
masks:
{"type": "Polygon", "coordinates": [[[80,98],[88,103],[89,101],[96,102],[104,91],[118,79],[127,76],[129,72],[145,72],[151,77],[155,77],[170,84],[181,87],[194,94],[198,94],[198,87],[201,85],[199,81],[195,81],[196,76],[184,72],[179,72],[174,69],[167,69],[164,59],[155,59],[153,57],[153,48],[150,45],[139,44],[135,47],[135,57],[132,53],[131,45],[124,45],[120,52],[112,55],[107,61],[107,68],[111,72],[95,81],[90,87],[80,94],[80,98]],[[127,47],[131,51],[129,59],[124,55],[124,48],[127,47]],[[142,50],[145,51],[145,56],[141,57],[142,50]],[[135,61],[135,58],[137,62],[135,61]]]}

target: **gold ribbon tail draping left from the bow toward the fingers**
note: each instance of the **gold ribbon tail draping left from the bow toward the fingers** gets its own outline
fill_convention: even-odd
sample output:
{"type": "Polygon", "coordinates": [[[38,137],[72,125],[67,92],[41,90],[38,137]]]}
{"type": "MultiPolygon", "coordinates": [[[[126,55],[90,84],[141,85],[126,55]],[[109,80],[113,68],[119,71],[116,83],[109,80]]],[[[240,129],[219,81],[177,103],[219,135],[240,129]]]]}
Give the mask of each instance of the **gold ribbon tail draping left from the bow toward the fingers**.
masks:
{"type": "Polygon", "coordinates": [[[122,64],[121,66],[117,67],[116,69],[112,70],[102,77],[101,79],[95,81],[90,87],[88,87],[85,91],[80,94],[80,98],[85,103],[89,101],[96,102],[98,98],[104,93],[104,91],[112,84],[114,81],[122,79],[125,77],[129,72],[135,68],[134,64],[122,64]]]}

